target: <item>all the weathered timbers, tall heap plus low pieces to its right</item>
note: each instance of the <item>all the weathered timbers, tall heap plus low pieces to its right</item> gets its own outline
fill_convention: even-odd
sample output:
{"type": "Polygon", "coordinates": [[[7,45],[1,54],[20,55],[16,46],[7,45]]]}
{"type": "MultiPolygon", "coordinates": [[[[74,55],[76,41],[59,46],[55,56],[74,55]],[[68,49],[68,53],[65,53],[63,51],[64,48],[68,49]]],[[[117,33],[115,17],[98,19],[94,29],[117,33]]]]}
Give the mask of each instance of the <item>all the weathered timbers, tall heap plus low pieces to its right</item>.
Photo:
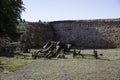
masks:
{"type": "MultiPolygon", "coordinates": [[[[95,49],[93,49],[92,54],[83,54],[81,53],[81,50],[76,51],[70,51],[71,44],[65,44],[61,43],[60,41],[48,41],[44,46],[42,50],[38,50],[32,53],[32,58],[37,59],[38,57],[44,57],[44,58],[65,58],[66,52],[72,53],[73,58],[76,58],[77,56],[81,56],[82,58],[85,58],[85,56],[93,56],[95,59],[99,59],[98,53],[95,49]]],[[[100,54],[102,56],[102,54],[100,54]]]]}

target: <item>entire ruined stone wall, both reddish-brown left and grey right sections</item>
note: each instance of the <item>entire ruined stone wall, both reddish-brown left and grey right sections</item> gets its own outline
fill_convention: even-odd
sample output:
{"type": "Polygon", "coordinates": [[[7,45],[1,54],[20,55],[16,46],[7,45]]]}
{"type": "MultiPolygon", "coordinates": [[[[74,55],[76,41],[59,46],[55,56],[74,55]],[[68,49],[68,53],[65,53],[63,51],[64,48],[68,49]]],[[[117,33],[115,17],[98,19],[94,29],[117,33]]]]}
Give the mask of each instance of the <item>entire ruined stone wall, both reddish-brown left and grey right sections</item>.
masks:
{"type": "Polygon", "coordinates": [[[27,24],[23,41],[43,46],[48,40],[89,48],[120,47],[120,19],[54,21],[27,24]]]}

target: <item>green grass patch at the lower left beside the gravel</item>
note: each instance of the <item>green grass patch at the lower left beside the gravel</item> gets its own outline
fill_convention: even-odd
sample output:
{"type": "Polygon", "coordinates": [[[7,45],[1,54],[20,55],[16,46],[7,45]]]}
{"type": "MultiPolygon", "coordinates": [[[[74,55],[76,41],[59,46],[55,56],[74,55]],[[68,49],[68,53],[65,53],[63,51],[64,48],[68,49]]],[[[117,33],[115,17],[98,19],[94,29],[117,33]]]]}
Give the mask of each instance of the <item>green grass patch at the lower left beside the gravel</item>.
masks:
{"type": "Polygon", "coordinates": [[[31,63],[33,60],[5,58],[1,57],[1,66],[8,71],[16,71],[21,67],[31,63]]]}

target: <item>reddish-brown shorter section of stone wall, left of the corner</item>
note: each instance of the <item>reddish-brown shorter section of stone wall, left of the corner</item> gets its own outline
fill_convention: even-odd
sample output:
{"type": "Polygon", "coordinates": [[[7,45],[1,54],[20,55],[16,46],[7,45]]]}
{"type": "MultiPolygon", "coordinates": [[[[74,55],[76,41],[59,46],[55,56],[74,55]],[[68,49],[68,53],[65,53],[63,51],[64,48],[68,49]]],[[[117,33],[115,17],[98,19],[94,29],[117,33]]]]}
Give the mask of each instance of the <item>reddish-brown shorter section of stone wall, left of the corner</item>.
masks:
{"type": "Polygon", "coordinates": [[[23,47],[42,47],[52,38],[53,32],[51,26],[37,22],[28,22],[20,41],[23,47]]]}

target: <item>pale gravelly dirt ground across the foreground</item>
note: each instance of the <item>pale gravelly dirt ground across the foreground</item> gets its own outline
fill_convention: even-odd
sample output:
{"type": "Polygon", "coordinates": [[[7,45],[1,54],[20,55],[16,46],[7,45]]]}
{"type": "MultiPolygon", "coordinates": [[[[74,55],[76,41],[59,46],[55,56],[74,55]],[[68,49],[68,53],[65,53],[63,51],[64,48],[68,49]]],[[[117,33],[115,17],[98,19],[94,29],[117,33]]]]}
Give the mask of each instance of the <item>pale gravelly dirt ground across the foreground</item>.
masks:
{"type": "MultiPolygon", "coordinates": [[[[120,51],[97,50],[101,59],[37,59],[15,72],[4,71],[1,80],[120,80],[120,51]]],[[[81,53],[92,54],[93,50],[81,53]]]]}

